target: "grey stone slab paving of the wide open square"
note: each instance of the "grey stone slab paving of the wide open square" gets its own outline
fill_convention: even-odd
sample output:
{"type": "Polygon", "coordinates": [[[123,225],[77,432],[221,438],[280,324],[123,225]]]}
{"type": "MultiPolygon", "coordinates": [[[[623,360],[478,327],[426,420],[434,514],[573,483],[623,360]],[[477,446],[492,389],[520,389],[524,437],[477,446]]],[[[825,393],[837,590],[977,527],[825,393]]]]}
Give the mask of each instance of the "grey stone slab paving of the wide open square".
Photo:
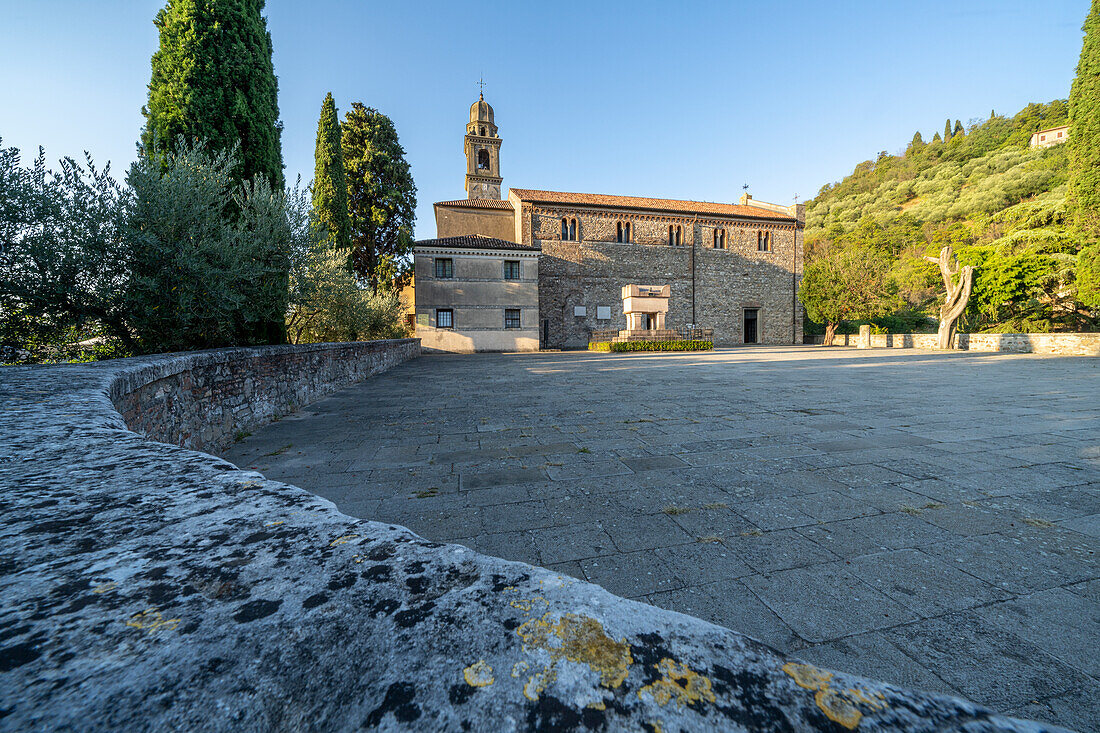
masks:
{"type": "Polygon", "coordinates": [[[1100,360],[425,355],[224,451],[814,664],[1100,730],[1100,360]]]}

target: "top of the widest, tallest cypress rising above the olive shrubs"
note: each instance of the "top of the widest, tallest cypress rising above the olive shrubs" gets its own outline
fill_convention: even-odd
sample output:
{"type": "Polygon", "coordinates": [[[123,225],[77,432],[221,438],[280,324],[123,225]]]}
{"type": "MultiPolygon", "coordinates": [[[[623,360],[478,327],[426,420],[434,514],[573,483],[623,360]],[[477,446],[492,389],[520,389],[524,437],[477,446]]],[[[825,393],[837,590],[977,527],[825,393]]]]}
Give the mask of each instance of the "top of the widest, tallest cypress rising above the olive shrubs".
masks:
{"type": "Polygon", "coordinates": [[[240,180],[266,176],[283,188],[283,127],[264,0],[168,0],[153,24],[153,54],[141,146],[163,158],[176,138],[213,151],[240,143],[240,180]]]}

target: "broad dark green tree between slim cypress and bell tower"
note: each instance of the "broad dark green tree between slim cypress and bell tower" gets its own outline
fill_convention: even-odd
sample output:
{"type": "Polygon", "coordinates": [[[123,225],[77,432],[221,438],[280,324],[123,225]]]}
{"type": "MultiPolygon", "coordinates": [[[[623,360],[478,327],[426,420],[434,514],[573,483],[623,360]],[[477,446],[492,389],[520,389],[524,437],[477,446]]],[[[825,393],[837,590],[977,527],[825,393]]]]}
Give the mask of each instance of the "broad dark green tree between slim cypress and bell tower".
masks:
{"type": "Polygon", "coordinates": [[[398,291],[411,271],[416,185],[391,119],[351,107],[342,135],[352,264],[372,291],[398,291]]]}

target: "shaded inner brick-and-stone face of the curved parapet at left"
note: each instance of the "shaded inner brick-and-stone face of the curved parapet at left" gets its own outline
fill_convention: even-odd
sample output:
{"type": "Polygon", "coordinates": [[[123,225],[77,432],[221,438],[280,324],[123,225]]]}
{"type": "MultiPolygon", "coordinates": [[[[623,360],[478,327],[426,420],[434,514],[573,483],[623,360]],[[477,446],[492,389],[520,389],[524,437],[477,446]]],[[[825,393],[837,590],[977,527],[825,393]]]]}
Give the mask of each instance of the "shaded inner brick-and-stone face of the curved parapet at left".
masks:
{"type": "Polygon", "coordinates": [[[197,351],[123,371],[111,400],[132,430],[215,450],[239,431],[418,355],[418,339],[197,351]]]}

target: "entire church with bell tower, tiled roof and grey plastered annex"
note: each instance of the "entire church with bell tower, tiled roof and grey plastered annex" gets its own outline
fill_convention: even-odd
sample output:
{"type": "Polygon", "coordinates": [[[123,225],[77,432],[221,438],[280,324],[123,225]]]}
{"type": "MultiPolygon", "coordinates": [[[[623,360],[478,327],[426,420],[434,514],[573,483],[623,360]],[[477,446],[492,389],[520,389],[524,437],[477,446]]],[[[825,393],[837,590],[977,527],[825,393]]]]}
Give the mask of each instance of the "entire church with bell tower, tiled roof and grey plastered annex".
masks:
{"type": "Polygon", "coordinates": [[[466,197],[437,203],[437,239],[414,249],[417,336],[426,347],[583,349],[594,331],[628,328],[623,293],[634,286],[668,288],[661,326],[713,329],[715,346],[802,343],[803,205],[748,195],[725,204],[530,188],[510,188],[504,198],[501,142],[482,96],[466,124],[466,197]],[[447,275],[448,265],[436,264],[447,259],[439,252],[448,245],[457,252],[460,243],[493,264],[481,265],[465,287],[441,288],[436,275],[447,275]],[[519,254],[530,265],[509,270],[515,265],[505,261],[519,254]],[[509,289],[507,276],[520,272],[524,280],[537,273],[534,288],[516,281],[509,289]],[[426,286],[432,303],[421,303],[426,286]],[[440,303],[441,296],[451,302],[440,303]],[[458,319],[460,309],[470,314],[466,325],[458,319]],[[505,311],[513,329],[503,329],[505,311]]]}

